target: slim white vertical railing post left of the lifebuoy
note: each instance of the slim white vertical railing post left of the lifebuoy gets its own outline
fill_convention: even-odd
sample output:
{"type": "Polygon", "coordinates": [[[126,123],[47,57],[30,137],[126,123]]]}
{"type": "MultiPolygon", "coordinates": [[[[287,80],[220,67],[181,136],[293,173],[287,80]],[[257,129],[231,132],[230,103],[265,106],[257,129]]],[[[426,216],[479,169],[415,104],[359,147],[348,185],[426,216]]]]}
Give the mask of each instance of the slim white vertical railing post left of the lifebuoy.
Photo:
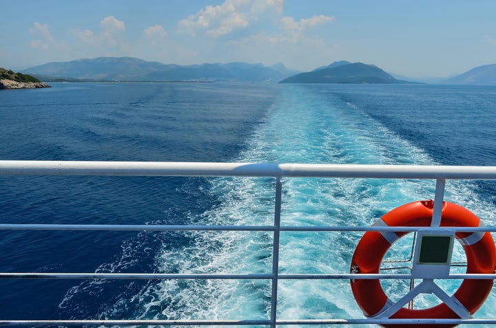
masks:
{"type": "Polygon", "coordinates": [[[277,177],[276,206],[274,210],[273,251],[272,251],[271,328],[276,328],[276,320],[277,320],[281,203],[282,203],[282,181],[281,181],[281,177],[277,177]]]}

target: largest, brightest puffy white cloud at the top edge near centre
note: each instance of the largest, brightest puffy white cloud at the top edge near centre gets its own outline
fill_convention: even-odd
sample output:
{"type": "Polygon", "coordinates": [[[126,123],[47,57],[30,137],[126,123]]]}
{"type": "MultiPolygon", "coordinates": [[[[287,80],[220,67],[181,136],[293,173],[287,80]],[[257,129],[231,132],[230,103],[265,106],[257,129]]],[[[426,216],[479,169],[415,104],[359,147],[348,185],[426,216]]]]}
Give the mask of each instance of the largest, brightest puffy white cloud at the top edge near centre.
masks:
{"type": "Polygon", "coordinates": [[[282,13],[282,0],[226,0],[220,6],[207,6],[178,23],[180,32],[216,39],[245,30],[267,12],[282,13]]]}

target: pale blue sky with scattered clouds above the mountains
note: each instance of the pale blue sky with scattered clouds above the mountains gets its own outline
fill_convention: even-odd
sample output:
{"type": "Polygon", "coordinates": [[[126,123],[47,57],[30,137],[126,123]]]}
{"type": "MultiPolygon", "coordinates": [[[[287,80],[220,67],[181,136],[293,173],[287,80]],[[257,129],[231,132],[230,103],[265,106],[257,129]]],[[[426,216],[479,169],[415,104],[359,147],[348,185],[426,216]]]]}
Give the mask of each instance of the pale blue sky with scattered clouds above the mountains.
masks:
{"type": "Polygon", "coordinates": [[[443,77],[496,63],[495,0],[0,0],[0,11],[0,67],[12,69],[132,56],[443,77]]]}

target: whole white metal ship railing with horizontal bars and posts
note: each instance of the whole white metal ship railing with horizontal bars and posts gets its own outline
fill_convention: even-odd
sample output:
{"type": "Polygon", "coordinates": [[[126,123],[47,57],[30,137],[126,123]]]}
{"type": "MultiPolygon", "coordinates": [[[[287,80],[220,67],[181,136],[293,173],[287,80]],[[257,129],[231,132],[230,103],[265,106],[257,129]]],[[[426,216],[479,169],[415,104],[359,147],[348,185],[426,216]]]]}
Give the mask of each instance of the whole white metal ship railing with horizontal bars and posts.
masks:
{"type": "MultiPolygon", "coordinates": [[[[43,279],[265,279],[271,281],[271,314],[267,320],[2,320],[0,326],[43,325],[363,325],[363,324],[496,324],[496,319],[315,319],[277,318],[278,281],[281,279],[404,279],[411,274],[280,274],[279,235],[283,231],[419,231],[425,227],[388,226],[281,226],[282,178],[338,177],[376,179],[435,179],[433,226],[457,232],[489,231],[496,227],[440,228],[446,179],[496,179],[496,166],[413,166],[349,164],[256,164],[205,162],[59,162],[0,161],[0,175],[113,175],[183,177],[274,177],[276,178],[274,223],[272,226],[165,226],[165,225],[67,225],[0,224],[0,230],[196,230],[196,231],[270,231],[273,232],[272,272],[270,274],[104,274],[104,273],[17,273],[3,272],[0,278],[43,279]]],[[[448,278],[494,279],[496,274],[450,274],[448,278]]],[[[1,296],[0,296],[1,297],[1,296]]]]}

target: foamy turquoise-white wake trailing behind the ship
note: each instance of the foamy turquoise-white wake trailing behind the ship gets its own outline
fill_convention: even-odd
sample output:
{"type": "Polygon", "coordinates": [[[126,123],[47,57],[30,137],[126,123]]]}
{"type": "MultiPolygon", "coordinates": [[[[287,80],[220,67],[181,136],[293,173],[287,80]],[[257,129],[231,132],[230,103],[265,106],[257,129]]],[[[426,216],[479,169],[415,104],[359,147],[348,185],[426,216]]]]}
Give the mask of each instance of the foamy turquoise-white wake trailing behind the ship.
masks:
{"type": "MultiPolygon", "coordinates": [[[[254,131],[240,162],[435,164],[421,149],[400,139],[351,104],[331,94],[285,86],[265,122],[254,131]]],[[[409,179],[285,179],[285,225],[369,226],[389,210],[434,197],[435,182],[409,179]]],[[[205,191],[203,191],[205,192],[205,191]]],[[[270,224],[273,179],[211,179],[220,205],[193,221],[207,224],[270,224]]],[[[463,204],[495,223],[495,208],[479,199],[470,182],[448,182],[445,199],[463,204]]],[[[265,232],[191,232],[176,252],[165,242],[156,258],[160,272],[270,272],[272,237],[265,232]]],[[[361,234],[283,232],[280,272],[347,273],[361,234]]],[[[398,252],[409,245],[398,243],[398,252]]],[[[459,250],[457,258],[463,258],[459,250]]],[[[396,287],[387,287],[397,297],[396,287]]],[[[278,317],[362,318],[348,281],[280,281],[278,317]]],[[[267,281],[163,281],[136,295],[140,318],[268,318],[267,281]]],[[[420,300],[422,303],[423,300],[420,300]]],[[[426,300],[428,302],[428,300],[426,300]]],[[[493,294],[482,315],[496,308],[493,294]]],[[[349,327],[349,326],[347,326],[349,327]]]]}

